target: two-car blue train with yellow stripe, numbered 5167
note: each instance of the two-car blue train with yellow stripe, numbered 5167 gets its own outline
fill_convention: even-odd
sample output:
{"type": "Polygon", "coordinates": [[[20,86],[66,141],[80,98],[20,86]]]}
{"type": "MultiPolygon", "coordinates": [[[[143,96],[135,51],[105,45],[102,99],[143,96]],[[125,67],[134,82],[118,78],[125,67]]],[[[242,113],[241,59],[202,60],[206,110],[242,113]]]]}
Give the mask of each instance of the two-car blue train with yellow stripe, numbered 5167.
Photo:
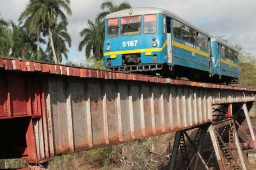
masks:
{"type": "Polygon", "coordinates": [[[240,78],[236,48],[161,8],[106,15],[103,59],[119,72],[223,84],[240,78]]]}

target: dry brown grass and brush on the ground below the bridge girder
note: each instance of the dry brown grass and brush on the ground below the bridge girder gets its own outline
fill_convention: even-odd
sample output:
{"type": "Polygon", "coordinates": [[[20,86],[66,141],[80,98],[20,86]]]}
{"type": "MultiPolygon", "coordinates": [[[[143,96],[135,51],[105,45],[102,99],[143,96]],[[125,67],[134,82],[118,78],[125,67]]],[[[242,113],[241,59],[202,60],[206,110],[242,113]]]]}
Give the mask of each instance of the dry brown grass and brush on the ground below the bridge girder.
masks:
{"type": "Polygon", "coordinates": [[[51,170],[167,170],[174,134],[57,156],[51,170]]]}

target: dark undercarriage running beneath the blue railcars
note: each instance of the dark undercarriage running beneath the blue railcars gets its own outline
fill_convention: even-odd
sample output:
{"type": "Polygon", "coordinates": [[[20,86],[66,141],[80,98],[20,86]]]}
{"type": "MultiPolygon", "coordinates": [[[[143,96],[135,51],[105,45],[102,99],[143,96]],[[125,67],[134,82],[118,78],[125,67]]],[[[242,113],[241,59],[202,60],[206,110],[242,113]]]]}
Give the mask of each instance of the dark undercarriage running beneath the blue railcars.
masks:
{"type": "Polygon", "coordinates": [[[209,72],[180,65],[170,66],[159,64],[157,55],[153,55],[153,64],[141,64],[140,54],[128,54],[122,56],[122,66],[111,66],[109,58],[108,67],[112,71],[138,73],[143,75],[160,76],[163,78],[188,79],[191,81],[217,83],[217,84],[237,84],[238,79],[229,76],[213,75],[209,72]]]}

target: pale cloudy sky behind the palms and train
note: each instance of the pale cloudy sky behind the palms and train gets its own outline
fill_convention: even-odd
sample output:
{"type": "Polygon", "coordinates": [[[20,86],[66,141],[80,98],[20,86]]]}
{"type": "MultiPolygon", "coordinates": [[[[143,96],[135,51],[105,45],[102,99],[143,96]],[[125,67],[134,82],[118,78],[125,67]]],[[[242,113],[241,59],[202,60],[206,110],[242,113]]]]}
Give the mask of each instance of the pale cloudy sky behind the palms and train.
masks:
{"type": "MultiPolygon", "coordinates": [[[[79,32],[94,20],[105,0],[71,0],[68,32],[72,38],[69,61],[85,61],[78,51],[79,32]]],[[[123,0],[113,0],[116,4],[123,0]]],[[[256,0],[127,0],[132,7],[158,7],[172,11],[213,36],[225,36],[233,44],[256,56],[256,0]]],[[[18,22],[29,0],[0,0],[1,17],[18,22]]],[[[63,63],[66,61],[64,60],[63,63]]]]}

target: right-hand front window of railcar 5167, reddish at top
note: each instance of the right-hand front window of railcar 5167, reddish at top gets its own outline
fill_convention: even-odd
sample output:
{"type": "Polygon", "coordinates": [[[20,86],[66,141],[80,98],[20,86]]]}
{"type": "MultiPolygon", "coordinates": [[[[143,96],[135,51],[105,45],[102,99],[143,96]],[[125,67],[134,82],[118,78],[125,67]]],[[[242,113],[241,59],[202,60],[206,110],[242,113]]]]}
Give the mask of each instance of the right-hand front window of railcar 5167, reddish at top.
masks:
{"type": "Polygon", "coordinates": [[[157,15],[144,15],[144,33],[156,33],[157,32],[157,15]]]}

